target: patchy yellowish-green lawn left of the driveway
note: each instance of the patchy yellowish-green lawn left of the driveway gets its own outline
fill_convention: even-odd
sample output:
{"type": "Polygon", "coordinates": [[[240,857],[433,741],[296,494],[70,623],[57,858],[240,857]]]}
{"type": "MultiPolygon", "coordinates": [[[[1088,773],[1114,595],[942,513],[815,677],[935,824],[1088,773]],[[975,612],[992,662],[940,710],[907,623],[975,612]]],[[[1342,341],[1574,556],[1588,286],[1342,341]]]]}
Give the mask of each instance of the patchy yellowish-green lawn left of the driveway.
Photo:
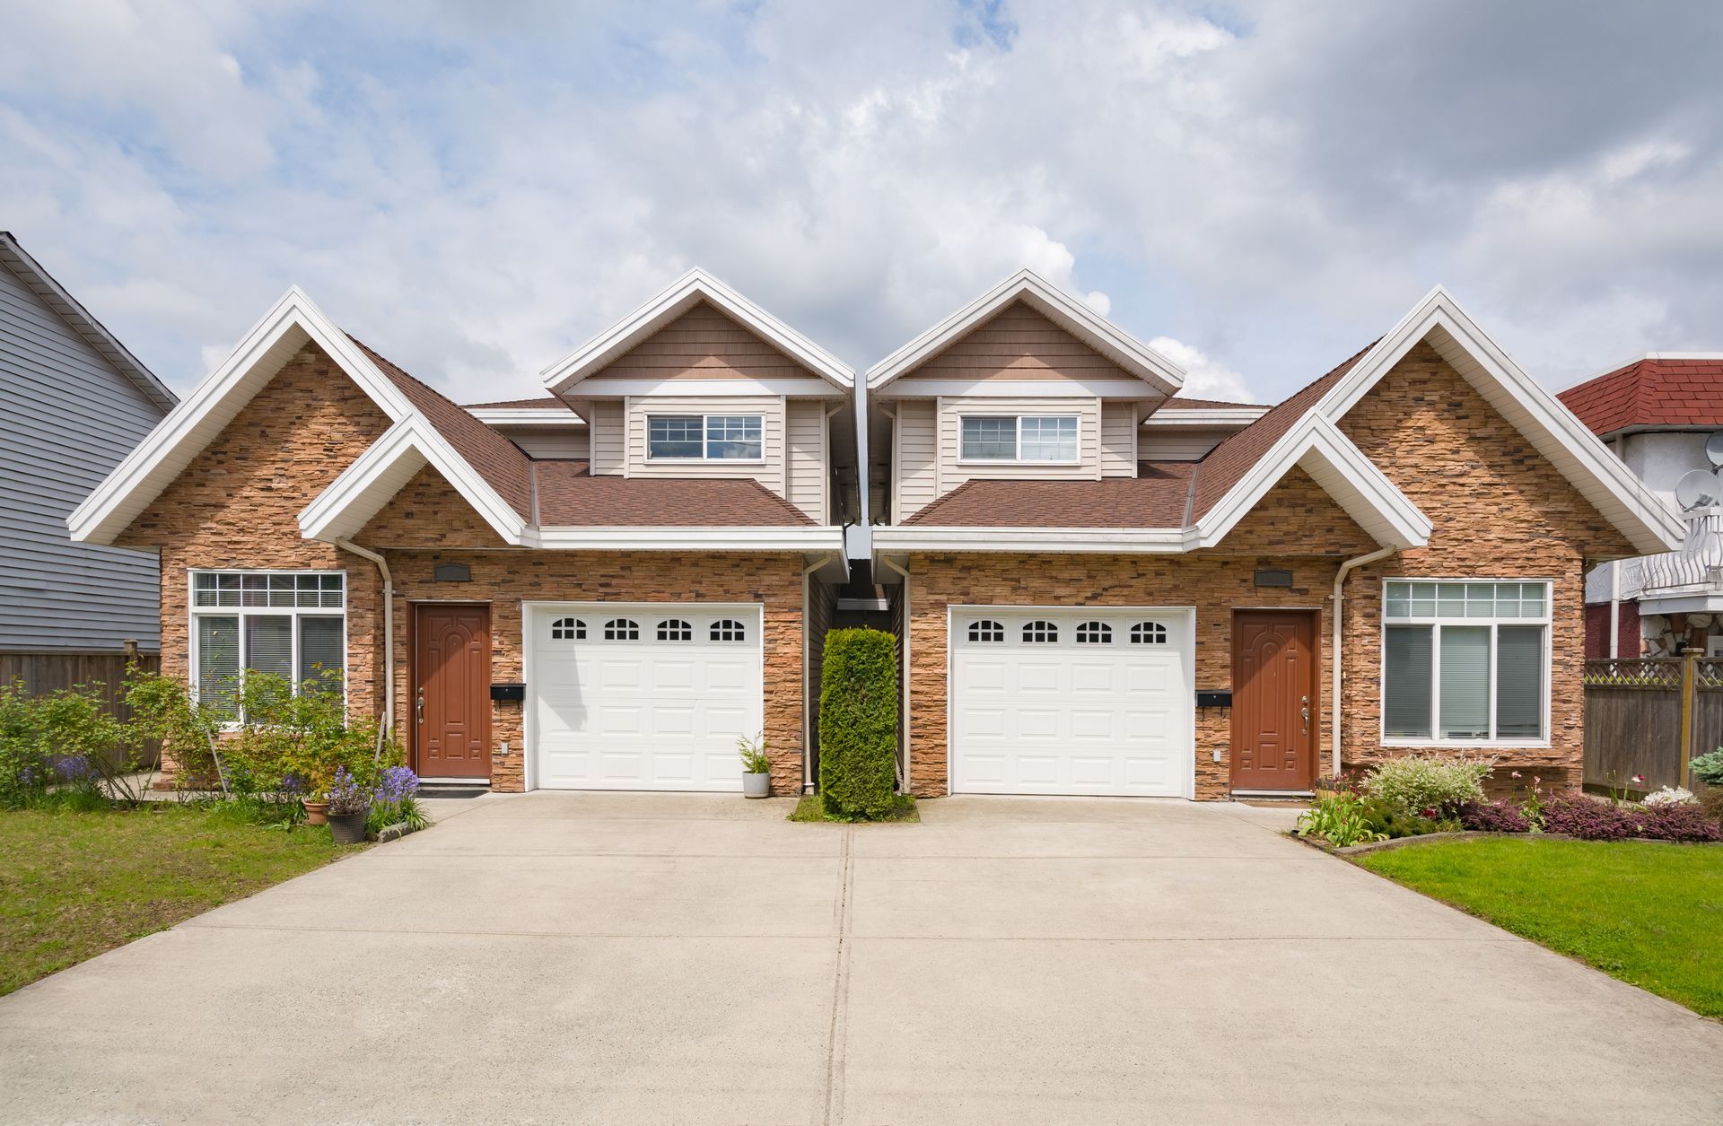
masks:
{"type": "Polygon", "coordinates": [[[0,995],[362,847],[236,809],[0,813],[0,995]]]}

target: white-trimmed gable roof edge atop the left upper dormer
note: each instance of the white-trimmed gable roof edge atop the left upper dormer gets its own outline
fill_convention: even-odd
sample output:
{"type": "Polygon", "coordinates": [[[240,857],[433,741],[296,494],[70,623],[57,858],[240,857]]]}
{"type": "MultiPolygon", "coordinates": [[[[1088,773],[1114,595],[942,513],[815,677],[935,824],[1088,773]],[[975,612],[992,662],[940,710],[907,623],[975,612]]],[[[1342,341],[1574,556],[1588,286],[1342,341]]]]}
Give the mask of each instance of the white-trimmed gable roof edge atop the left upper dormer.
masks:
{"type": "Polygon", "coordinates": [[[677,277],[670,286],[622,320],[546,367],[543,372],[544,386],[550,387],[551,394],[569,394],[582,379],[603,370],[701,301],[737,320],[744,329],[834,387],[843,391],[855,387],[855,372],[843,362],[698,267],[677,277]]]}

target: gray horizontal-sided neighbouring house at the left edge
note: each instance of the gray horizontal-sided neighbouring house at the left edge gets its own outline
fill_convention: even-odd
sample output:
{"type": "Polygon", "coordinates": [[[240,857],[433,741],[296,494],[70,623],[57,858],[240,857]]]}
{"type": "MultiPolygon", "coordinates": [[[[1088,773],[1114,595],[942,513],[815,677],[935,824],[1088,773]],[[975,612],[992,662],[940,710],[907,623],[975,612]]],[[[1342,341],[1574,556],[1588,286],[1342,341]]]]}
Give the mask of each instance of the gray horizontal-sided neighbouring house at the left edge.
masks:
{"type": "Polygon", "coordinates": [[[65,517],[174,401],[0,231],[0,654],[160,649],[155,556],[74,544],[65,517]]]}

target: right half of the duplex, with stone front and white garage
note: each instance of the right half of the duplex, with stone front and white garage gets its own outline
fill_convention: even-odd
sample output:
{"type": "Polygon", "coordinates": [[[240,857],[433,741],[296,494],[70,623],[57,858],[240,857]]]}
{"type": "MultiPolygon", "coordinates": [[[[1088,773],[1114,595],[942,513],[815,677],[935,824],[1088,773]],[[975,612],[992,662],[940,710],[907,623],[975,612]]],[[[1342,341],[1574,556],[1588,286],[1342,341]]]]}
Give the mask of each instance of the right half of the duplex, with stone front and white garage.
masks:
{"type": "Polygon", "coordinates": [[[1442,289],[1201,441],[1180,386],[1029,272],[867,372],[908,787],[1301,794],[1420,749],[1578,785],[1589,561],[1675,511],[1442,289]]]}

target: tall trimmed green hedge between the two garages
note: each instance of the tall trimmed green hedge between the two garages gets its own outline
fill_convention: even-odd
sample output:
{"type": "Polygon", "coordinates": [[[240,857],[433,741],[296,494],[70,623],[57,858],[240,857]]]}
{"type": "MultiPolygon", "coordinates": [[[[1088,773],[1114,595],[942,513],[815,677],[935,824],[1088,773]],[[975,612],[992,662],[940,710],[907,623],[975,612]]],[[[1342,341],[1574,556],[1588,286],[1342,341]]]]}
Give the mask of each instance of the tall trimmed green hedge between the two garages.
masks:
{"type": "Polygon", "coordinates": [[[877,818],[898,790],[898,640],[832,630],[820,673],[820,801],[825,813],[877,818]]]}

